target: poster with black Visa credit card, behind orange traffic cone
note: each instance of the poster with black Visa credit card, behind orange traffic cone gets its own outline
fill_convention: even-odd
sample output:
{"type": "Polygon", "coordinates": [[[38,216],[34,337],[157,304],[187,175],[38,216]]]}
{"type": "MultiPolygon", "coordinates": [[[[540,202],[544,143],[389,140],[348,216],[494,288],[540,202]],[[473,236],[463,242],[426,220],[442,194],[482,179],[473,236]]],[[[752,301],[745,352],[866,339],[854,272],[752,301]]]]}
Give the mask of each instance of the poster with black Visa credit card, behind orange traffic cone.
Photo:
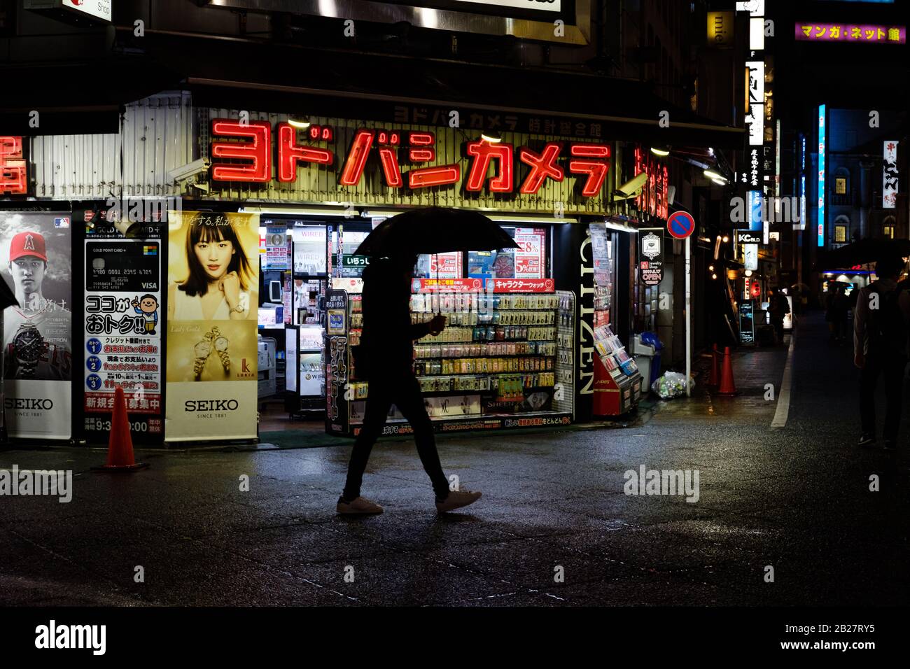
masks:
{"type": "MultiPolygon", "coordinates": [[[[116,234],[116,233],[115,233],[116,234]]],[[[114,392],[126,395],[135,441],[161,441],[161,241],[86,239],[85,430],[106,438],[114,392]]]]}

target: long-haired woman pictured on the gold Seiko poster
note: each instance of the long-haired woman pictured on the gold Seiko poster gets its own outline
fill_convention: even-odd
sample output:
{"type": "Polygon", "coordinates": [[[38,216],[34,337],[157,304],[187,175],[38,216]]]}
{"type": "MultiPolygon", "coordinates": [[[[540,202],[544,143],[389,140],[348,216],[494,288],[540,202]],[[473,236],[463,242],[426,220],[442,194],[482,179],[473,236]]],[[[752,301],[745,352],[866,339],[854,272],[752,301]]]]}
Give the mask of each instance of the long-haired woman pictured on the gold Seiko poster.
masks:
{"type": "Polygon", "coordinates": [[[250,245],[230,218],[200,214],[185,227],[180,250],[187,269],[183,279],[168,286],[168,320],[257,320],[256,270],[245,249],[250,245]]]}

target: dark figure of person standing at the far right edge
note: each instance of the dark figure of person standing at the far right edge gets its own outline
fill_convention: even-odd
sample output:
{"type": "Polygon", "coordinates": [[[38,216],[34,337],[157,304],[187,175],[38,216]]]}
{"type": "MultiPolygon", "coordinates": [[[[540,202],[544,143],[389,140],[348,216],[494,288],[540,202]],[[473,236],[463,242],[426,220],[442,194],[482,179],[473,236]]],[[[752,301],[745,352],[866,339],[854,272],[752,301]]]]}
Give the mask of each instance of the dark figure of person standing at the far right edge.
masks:
{"type": "Polygon", "coordinates": [[[910,332],[910,292],[898,285],[904,258],[875,263],[878,279],[860,289],[854,310],[854,364],[860,369],[859,404],[863,433],[859,445],[875,445],[875,388],[885,376],[885,450],[895,449],[901,423],[901,395],[910,332]]]}

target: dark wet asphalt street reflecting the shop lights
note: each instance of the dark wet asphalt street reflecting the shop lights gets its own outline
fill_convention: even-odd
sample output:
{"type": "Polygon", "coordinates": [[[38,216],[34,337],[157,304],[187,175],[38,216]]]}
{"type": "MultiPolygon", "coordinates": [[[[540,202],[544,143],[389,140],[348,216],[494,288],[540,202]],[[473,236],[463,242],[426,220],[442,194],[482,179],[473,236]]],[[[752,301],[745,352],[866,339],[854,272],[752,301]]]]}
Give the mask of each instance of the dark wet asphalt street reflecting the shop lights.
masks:
{"type": "Polygon", "coordinates": [[[373,451],[363,493],[386,512],[362,519],[335,514],[343,444],[137,451],[151,468],[120,476],[88,471],[103,451],[0,452],[76,472],[69,503],[0,497],[0,603],[906,603],[907,417],[897,454],[858,451],[858,375],[825,339],[803,319],[782,430],[783,347],[736,354],[740,395],[700,388],[634,427],[440,441],[484,493],[447,517],[410,441],[373,451]],[[624,494],[641,465],[697,470],[698,501],[624,494]]]}

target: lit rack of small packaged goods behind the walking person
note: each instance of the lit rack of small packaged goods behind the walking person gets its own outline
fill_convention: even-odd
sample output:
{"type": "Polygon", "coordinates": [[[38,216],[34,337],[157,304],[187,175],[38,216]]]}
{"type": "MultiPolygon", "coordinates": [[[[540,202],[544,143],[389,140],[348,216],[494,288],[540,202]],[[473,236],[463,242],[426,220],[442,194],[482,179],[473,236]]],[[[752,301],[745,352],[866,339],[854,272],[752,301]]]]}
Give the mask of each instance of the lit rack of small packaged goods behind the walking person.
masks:
{"type": "MultiPolygon", "coordinates": [[[[369,382],[358,378],[350,354],[363,327],[360,297],[344,290],[327,295],[326,430],[331,434],[356,436],[369,398],[369,382]]],[[[415,376],[437,431],[571,421],[571,400],[562,399],[571,392],[557,392],[557,376],[571,378],[571,365],[562,369],[557,362],[561,320],[573,318],[573,311],[561,314],[565,299],[573,296],[480,291],[411,296],[412,322],[427,322],[437,313],[447,319],[439,335],[413,344],[415,376]]],[[[409,432],[410,425],[392,407],[386,433],[409,432]]]]}

